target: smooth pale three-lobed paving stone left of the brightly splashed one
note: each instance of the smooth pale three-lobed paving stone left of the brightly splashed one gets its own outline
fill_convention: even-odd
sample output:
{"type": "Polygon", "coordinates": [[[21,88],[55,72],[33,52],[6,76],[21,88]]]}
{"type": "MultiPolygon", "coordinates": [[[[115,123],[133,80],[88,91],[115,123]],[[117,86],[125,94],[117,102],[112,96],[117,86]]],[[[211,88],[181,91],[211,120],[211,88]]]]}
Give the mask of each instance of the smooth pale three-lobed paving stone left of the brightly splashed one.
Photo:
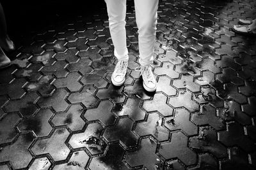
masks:
{"type": "Polygon", "coordinates": [[[69,132],[65,128],[56,129],[54,133],[46,139],[38,139],[31,150],[36,154],[49,153],[53,160],[65,160],[70,152],[65,141],[69,132]]]}

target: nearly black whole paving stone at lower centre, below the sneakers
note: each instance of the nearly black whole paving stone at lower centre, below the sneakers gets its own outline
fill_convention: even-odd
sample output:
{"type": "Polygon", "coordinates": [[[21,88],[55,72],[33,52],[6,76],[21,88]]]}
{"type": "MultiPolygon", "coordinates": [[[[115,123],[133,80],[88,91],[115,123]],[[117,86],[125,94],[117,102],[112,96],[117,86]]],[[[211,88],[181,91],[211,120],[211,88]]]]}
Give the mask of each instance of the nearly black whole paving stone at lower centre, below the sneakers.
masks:
{"type": "Polygon", "coordinates": [[[126,148],[136,146],[138,137],[131,131],[132,125],[130,118],[120,118],[115,126],[106,127],[103,136],[108,142],[120,141],[126,148]]]}

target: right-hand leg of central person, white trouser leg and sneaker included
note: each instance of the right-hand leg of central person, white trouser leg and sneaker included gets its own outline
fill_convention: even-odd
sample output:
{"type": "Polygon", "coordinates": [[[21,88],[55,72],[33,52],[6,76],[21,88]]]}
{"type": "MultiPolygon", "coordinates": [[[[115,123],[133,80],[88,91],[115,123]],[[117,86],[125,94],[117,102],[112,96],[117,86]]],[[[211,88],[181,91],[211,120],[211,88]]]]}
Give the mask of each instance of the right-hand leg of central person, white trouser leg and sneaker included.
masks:
{"type": "Polygon", "coordinates": [[[156,78],[154,78],[150,64],[154,60],[158,2],[158,0],[134,0],[139,33],[141,76],[143,87],[148,92],[154,92],[157,88],[156,78]]]}

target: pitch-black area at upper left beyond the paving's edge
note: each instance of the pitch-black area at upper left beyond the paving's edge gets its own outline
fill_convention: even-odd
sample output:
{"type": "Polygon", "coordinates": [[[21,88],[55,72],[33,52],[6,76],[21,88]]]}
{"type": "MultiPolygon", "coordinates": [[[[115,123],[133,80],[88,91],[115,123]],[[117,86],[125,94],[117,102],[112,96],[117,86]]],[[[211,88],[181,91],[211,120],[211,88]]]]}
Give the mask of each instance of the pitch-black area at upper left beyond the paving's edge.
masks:
{"type": "Polygon", "coordinates": [[[74,18],[77,15],[100,13],[106,4],[104,0],[95,1],[1,1],[6,15],[8,34],[13,41],[33,34],[45,25],[74,18]]]}

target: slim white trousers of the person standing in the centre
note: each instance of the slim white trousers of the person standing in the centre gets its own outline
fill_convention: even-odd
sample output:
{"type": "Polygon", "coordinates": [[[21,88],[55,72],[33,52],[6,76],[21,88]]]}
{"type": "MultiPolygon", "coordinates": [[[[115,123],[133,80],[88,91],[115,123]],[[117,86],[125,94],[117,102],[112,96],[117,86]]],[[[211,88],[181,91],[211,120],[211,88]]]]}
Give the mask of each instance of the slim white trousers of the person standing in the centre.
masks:
{"type": "MultiPolygon", "coordinates": [[[[151,64],[154,60],[158,1],[134,0],[141,66],[151,64]]],[[[109,31],[115,47],[114,55],[118,60],[128,61],[125,31],[126,0],[105,0],[105,2],[108,9],[109,31]]]]}

